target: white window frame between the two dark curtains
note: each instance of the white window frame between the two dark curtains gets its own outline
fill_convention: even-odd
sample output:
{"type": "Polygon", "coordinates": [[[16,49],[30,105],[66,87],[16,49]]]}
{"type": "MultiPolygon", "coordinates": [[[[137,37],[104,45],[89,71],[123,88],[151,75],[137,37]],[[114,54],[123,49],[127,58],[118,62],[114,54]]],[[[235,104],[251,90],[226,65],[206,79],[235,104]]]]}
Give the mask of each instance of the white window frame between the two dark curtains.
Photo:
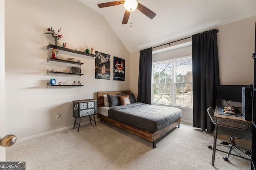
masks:
{"type": "MultiPolygon", "coordinates": [[[[192,55],[189,56],[185,56],[185,57],[178,57],[178,58],[173,58],[173,59],[168,59],[168,60],[163,60],[163,61],[156,61],[156,62],[152,62],[152,83],[151,83],[151,100],[152,100],[152,104],[156,104],[156,105],[168,105],[168,106],[176,106],[176,107],[184,107],[184,108],[193,108],[193,101],[192,101],[192,106],[186,106],[186,105],[178,105],[178,104],[174,104],[175,103],[175,98],[176,98],[176,62],[179,61],[186,61],[188,59],[192,60],[192,55]],[[165,63],[172,63],[172,89],[171,89],[171,98],[172,98],[172,104],[169,103],[162,103],[162,102],[154,102],[154,65],[158,65],[158,64],[165,64],[165,63]]],[[[193,64],[193,63],[192,63],[193,64]]],[[[192,85],[193,85],[193,80],[192,80],[192,85]]],[[[192,100],[193,100],[193,94],[192,94],[192,100]]]]}

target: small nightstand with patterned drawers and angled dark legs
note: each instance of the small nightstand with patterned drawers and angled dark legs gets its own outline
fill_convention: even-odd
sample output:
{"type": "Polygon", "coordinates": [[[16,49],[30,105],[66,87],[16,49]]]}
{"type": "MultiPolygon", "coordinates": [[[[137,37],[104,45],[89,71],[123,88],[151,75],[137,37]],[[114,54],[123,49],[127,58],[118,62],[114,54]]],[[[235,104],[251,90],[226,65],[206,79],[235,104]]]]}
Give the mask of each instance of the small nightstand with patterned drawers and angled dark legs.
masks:
{"type": "Polygon", "coordinates": [[[97,100],[94,99],[86,99],[86,100],[74,100],[73,102],[73,117],[75,117],[74,127],[75,125],[78,125],[77,132],[79,131],[80,122],[82,117],[89,116],[90,122],[92,124],[92,121],[94,121],[95,126],[96,120],[95,115],[97,114],[97,100]],[[93,115],[93,119],[91,119],[91,115],[93,115]],[[76,119],[79,119],[79,123],[76,123],[76,119]]]}

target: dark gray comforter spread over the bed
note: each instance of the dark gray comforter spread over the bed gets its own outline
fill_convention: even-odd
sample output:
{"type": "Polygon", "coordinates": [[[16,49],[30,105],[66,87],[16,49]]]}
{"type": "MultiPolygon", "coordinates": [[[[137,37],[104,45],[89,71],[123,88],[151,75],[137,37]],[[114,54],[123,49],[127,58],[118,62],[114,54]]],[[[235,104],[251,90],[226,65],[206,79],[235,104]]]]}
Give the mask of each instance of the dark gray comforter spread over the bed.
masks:
{"type": "Polygon", "coordinates": [[[180,119],[181,110],[176,107],[155,106],[136,102],[112,107],[108,110],[108,117],[154,133],[180,119]]]}

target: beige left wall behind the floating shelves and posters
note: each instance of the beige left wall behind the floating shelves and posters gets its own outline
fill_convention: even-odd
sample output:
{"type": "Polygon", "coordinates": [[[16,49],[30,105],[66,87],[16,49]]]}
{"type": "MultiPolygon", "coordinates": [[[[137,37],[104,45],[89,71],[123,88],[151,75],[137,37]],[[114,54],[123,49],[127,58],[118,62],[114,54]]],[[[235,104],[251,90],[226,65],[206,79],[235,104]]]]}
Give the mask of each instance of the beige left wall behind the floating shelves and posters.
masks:
{"type": "MultiPolygon", "coordinates": [[[[130,89],[128,51],[102,15],[77,0],[6,1],[5,30],[6,133],[18,140],[72,126],[73,100],[96,99],[98,91],[130,89]],[[62,27],[60,43],[66,42],[67,48],[84,51],[93,45],[94,51],[111,56],[111,66],[114,56],[125,59],[125,81],[114,81],[112,70],[111,80],[95,79],[92,57],[63,51],[59,59],[74,57],[85,63],[81,66],[84,76],[47,75],[52,68],[66,72],[79,66],[46,62],[51,55],[46,44],[52,40],[44,34],[48,27],[55,31],[62,27]],[[46,88],[52,77],[68,84],[80,80],[84,87],[46,88]],[[56,114],[60,121],[55,121],[56,114]]],[[[88,117],[82,118],[81,123],[88,122],[88,117]]]]}

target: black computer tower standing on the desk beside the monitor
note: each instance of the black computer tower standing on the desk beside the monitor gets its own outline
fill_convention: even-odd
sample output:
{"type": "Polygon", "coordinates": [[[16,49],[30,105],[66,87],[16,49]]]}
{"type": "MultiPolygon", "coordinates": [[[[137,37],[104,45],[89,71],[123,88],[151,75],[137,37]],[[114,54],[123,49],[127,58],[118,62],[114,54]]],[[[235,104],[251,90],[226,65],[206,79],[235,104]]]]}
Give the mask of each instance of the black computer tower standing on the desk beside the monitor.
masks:
{"type": "Polygon", "coordinates": [[[252,121],[252,87],[242,87],[242,117],[252,121]]]}

